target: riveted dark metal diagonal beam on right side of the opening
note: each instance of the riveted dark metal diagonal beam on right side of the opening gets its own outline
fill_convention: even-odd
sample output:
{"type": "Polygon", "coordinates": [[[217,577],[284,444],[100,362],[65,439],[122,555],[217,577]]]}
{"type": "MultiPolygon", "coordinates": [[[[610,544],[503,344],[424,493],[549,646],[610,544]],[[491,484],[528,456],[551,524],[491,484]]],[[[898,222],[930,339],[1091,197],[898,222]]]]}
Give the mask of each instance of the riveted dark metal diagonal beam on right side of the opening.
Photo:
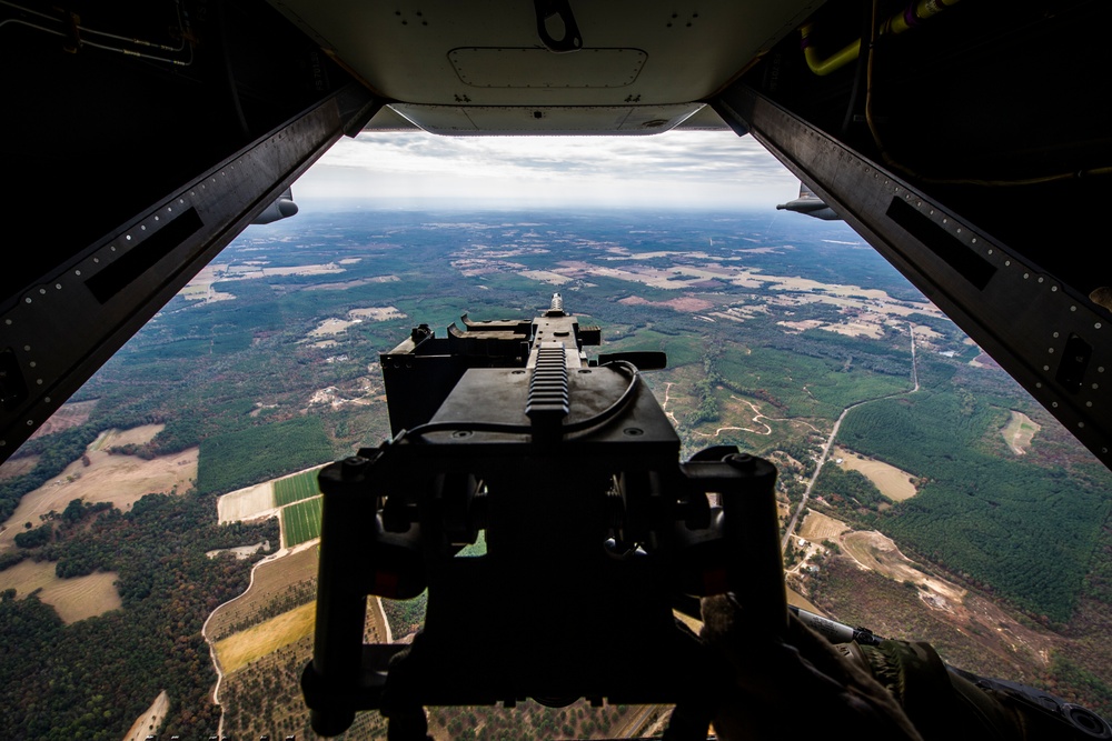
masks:
{"type": "Polygon", "coordinates": [[[1112,327],[1082,292],[754,89],[736,86],[714,106],[1112,467],[1112,327]]]}

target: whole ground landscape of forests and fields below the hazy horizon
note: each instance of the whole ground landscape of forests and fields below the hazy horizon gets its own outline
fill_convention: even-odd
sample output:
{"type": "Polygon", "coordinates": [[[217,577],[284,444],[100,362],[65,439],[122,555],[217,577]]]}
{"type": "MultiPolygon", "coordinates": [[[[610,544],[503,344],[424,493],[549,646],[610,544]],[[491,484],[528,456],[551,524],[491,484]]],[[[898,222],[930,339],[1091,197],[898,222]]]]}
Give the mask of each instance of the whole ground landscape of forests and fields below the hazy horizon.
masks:
{"type": "MultiPolygon", "coordinates": [[[[0,467],[0,731],[315,738],[316,472],[389,437],[379,353],[554,291],[602,328],[589,354],[667,354],[642,378],[684,459],[777,465],[792,603],[1112,715],[1112,474],[848,227],[353,209],[249,228],[0,467]]],[[[367,640],[411,640],[423,598],[375,602],[367,640]]],[[[627,738],[666,715],[526,702],[429,728],[627,738]]]]}

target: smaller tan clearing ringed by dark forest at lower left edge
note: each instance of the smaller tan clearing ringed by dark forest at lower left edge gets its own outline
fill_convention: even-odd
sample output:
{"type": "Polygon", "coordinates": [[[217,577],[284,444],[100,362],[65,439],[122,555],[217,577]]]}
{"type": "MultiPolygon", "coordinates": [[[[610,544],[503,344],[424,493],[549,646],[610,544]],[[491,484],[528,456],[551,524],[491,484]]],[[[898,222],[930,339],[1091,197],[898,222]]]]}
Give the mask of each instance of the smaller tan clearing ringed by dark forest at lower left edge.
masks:
{"type": "Polygon", "coordinates": [[[117,579],[119,574],[115,571],[59,579],[52,561],[36,563],[28,559],[0,571],[0,590],[14,589],[17,597],[24,598],[41,589],[39,599],[52,605],[58,617],[70,624],[123,607],[116,591],[117,579]]]}

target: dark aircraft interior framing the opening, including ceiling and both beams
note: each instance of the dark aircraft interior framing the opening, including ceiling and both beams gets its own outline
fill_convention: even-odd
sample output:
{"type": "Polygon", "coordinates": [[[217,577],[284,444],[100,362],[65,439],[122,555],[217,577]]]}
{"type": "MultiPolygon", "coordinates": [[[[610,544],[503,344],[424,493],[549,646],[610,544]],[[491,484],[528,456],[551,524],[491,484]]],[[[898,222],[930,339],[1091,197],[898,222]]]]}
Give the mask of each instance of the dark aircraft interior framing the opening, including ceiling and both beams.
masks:
{"type": "Polygon", "coordinates": [[[1105,464],[1095,0],[0,4],[0,460],[342,136],[775,154],[1105,464]]]}

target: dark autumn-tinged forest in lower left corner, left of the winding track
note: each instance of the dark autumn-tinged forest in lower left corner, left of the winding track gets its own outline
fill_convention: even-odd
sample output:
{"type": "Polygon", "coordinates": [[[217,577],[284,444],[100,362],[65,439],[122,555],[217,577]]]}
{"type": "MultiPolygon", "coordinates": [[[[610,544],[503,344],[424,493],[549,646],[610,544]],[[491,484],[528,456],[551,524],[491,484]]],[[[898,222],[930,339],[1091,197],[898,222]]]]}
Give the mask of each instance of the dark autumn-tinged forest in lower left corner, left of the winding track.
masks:
{"type": "Polygon", "coordinates": [[[182,738],[215,732],[216,681],[201,624],[246,587],[251,560],[208,550],[269,540],[277,524],[217,525],[211,497],[151,494],[130,512],[91,514],[86,529],[39,547],[60,577],[119,573],[123,608],[62,624],[36,595],[0,599],[0,734],[118,741],[161,691],[168,727],[182,738]]]}

